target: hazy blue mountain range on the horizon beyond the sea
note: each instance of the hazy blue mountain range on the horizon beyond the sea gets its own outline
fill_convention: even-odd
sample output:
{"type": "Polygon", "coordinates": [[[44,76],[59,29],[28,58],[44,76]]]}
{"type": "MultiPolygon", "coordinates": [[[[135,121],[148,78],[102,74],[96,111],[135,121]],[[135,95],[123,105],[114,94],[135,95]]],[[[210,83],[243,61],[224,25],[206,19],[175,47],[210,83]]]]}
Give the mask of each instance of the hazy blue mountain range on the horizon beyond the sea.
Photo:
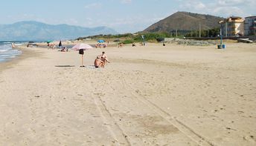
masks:
{"type": "Polygon", "coordinates": [[[0,40],[59,40],[77,39],[81,36],[118,34],[109,27],[77,27],[68,24],[45,24],[38,21],[19,21],[14,24],[0,24],[0,40]]]}

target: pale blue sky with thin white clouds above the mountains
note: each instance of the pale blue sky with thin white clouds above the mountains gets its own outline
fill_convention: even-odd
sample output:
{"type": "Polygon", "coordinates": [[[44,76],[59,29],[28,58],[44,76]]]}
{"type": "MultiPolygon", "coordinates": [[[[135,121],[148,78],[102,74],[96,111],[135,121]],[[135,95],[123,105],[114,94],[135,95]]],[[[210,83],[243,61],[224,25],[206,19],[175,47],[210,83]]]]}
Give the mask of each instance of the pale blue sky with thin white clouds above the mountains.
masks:
{"type": "Polygon", "coordinates": [[[0,24],[40,21],[136,33],[178,11],[256,16],[256,0],[1,0],[0,24]]]}

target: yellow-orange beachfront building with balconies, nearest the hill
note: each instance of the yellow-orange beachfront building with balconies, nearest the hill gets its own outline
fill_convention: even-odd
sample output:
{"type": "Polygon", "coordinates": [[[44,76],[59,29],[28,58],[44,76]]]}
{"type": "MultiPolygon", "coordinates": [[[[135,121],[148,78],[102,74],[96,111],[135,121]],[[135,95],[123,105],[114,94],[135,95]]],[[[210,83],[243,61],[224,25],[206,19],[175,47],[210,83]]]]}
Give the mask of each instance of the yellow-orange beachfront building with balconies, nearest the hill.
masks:
{"type": "Polygon", "coordinates": [[[228,36],[244,36],[244,19],[241,17],[229,17],[219,22],[221,25],[222,35],[228,36]]]}

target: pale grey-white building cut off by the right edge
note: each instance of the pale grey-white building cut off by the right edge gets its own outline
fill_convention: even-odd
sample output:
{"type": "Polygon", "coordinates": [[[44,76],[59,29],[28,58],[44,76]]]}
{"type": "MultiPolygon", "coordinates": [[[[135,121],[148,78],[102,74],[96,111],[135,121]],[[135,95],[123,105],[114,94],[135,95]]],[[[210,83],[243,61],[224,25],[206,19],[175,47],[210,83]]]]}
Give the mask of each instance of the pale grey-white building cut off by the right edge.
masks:
{"type": "Polygon", "coordinates": [[[244,34],[245,36],[256,35],[256,16],[249,16],[245,18],[244,34]]]}

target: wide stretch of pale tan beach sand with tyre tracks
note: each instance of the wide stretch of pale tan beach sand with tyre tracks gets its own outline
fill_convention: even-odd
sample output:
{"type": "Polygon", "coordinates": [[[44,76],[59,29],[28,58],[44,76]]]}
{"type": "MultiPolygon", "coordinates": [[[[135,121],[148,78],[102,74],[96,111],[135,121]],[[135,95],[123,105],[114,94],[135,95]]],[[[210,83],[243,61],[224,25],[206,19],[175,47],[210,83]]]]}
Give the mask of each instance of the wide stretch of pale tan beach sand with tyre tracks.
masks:
{"type": "Polygon", "coordinates": [[[0,64],[0,145],[256,145],[256,44],[107,47],[87,67],[22,50],[0,64]]]}

